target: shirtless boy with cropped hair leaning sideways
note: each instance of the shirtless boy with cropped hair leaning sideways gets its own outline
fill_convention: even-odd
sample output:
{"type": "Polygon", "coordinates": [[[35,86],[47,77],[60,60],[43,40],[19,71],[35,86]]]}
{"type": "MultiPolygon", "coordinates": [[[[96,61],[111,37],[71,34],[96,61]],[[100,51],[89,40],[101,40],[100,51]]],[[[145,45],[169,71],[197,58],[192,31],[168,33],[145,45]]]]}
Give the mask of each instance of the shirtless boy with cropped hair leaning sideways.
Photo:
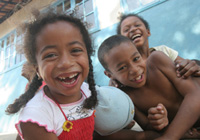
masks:
{"type": "MultiPolygon", "coordinates": [[[[192,127],[199,127],[200,80],[195,77],[180,79],[173,62],[160,51],[146,60],[124,36],[106,39],[100,46],[98,58],[109,78],[116,79],[134,102],[135,120],[148,130],[148,110],[162,103],[168,111],[169,126],[158,140],[178,140],[192,127]]],[[[197,132],[189,138],[200,138],[197,132]]],[[[186,137],[187,138],[187,137],[186,137]]]]}

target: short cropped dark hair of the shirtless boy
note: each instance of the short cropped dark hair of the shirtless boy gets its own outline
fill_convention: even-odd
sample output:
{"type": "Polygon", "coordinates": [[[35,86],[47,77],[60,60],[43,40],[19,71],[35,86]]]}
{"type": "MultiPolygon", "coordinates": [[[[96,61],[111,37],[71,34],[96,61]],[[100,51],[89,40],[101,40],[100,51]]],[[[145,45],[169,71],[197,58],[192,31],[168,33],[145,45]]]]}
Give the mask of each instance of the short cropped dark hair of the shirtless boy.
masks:
{"type": "Polygon", "coordinates": [[[112,48],[119,46],[122,42],[131,42],[132,43],[132,41],[129,38],[125,37],[125,36],[122,36],[122,35],[113,35],[113,36],[105,39],[103,41],[103,43],[100,45],[99,50],[98,50],[98,59],[99,59],[101,65],[107,71],[109,71],[109,69],[108,69],[107,63],[104,60],[104,56],[112,48]]]}

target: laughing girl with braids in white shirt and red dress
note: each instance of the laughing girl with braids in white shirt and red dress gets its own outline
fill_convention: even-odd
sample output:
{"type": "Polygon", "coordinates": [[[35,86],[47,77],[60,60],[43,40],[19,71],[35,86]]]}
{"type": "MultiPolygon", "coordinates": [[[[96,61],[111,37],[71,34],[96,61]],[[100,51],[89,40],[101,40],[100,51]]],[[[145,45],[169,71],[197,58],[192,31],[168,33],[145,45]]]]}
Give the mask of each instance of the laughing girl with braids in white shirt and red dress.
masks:
{"type": "Polygon", "coordinates": [[[28,24],[23,47],[37,74],[6,110],[22,108],[16,124],[21,139],[92,140],[97,93],[85,26],[67,15],[39,15],[28,24]],[[46,86],[37,91],[43,80],[46,86]]]}

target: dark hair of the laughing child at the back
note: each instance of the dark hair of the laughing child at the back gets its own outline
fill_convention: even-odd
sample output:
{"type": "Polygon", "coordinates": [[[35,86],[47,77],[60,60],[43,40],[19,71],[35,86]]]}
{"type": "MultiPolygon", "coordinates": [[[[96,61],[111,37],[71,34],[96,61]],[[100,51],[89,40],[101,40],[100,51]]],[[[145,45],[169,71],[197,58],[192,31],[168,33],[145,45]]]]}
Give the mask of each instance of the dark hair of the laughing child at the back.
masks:
{"type": "Polygon", "coordinates": [[[120,17],[120,22],[117,25],[117,34],[121,34],[121,24],[128,17],[137,17],[137,18],[139,18],[144,23],[145,27],[150,31],[149,23],[145,19],[143,19],[141,16],[139,16],[137,14],[127,14],[127,15],[122,15],[120,17]]]}

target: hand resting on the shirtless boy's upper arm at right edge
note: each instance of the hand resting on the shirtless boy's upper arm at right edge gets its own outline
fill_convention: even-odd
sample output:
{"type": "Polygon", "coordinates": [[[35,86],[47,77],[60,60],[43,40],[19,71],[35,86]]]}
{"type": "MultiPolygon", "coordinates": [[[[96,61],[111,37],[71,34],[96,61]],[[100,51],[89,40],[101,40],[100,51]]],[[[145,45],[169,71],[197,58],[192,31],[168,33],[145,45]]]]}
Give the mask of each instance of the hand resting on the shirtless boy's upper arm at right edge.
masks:
{"type": "Polygon", "coordinates": [[[178,77],[200,76],[200,66],[195,61],[184,59],[176,60],[175,63],[178,77]]]}

